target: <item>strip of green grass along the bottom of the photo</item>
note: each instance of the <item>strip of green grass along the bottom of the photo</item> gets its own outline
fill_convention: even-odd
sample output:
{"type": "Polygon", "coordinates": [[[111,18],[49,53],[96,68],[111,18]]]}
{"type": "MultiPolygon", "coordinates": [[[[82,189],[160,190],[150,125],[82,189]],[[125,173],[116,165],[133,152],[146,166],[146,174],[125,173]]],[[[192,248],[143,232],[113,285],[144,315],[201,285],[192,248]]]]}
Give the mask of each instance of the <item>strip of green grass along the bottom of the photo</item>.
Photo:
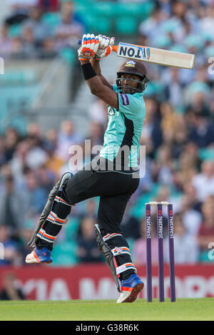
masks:
{"type": "Polygon", "coordinates": [[[1,321],[213,321],[214,298],[176,302],[138,299],[133,304],[113,300],[0,301],[1,321]]]}

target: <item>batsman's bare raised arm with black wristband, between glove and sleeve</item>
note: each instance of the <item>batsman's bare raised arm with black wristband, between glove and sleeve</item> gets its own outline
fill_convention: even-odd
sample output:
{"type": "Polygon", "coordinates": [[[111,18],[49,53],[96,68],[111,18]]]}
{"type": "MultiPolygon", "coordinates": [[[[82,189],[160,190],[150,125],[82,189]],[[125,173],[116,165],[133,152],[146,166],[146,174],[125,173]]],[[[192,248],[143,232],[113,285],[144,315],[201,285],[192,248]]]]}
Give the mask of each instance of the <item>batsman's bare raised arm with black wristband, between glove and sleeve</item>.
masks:
{"type": "Polygon", "coordinates": [[[109,86],[103,85],[101,78],[97,76],[90,61],[81,61],[83,76],[94,96],[97,96],[111,107],[118,110],[118,95],[109,86]]]}

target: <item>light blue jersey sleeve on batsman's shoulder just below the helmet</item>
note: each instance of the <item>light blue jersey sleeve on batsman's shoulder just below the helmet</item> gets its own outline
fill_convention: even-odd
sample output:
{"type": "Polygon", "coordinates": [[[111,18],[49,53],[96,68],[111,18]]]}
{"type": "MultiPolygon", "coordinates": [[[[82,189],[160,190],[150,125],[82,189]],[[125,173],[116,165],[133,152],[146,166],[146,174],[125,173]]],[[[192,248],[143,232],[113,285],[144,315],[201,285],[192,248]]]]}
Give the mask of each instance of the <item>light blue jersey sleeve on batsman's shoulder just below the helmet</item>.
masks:
{"type": "Polygon", "coordinates": [[[145,116],[146,108],[143,98],[139,99],[131,94],[118,93],[118,112],[127,118],[145,116]]]}

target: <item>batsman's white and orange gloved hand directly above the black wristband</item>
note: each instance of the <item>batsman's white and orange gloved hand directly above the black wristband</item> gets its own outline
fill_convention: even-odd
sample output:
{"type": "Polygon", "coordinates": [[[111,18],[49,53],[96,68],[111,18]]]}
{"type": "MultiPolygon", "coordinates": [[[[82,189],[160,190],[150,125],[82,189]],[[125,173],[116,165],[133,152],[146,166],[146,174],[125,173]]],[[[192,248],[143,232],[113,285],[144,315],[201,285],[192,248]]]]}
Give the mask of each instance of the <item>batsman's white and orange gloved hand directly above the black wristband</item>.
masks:
{"type": "Polygon", "coordinates": [[[85,33],[82,38],[82,45],[77,51],[79,61],[86,61],[90,58],[94,58],[98,51],[98,46],[98,36],[94,36],[93,33],[87,33],[87,35],[85,33]]]}

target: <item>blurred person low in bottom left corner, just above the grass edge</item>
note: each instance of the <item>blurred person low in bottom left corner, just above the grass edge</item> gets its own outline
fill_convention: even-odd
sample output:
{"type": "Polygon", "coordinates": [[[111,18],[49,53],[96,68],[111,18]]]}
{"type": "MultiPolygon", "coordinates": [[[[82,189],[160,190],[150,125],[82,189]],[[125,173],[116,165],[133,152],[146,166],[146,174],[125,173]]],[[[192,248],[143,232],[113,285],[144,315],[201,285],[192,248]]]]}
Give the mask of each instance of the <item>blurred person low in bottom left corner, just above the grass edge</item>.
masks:
{"type": "Polygon", "coordinates": [[[6,272],[2,280],[3,287],[0,292],[0,300],[24,300],[24,292],[12,272],[6,272]]]}

